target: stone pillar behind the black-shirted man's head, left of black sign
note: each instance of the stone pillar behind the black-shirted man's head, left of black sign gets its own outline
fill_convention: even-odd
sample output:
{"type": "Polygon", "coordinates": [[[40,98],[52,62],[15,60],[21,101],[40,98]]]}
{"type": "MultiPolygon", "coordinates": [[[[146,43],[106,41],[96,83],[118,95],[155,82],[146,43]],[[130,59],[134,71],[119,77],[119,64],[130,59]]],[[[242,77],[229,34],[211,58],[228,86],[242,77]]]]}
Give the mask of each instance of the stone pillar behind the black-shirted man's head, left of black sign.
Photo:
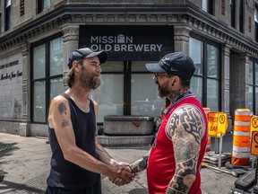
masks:
{"type": "MultiPolygon", "coordinates": [[[[78,24],[64,24],[62,27],[63,31],[63,42],[64,42],[64,75],[67,73],[68,69],[68,58],[74,49],[79,46],[79,25],[78,24]]],[[[67,85],[64,84],[64,90],[67,89],[67,85]]]]}

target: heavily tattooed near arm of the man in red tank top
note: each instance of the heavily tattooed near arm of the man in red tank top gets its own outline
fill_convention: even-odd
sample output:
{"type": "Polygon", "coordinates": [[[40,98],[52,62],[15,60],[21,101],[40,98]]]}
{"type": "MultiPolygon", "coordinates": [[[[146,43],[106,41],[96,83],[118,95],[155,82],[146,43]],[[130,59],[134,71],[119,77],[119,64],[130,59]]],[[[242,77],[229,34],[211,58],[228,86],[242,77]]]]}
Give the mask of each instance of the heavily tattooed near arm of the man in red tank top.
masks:
{"type": "Polygon", "coordinates": [[[179,108],[171,115],[167,129],[173,142],[176,171],[166,194],[187,193],[191,189],[195,181],[202,126],[202,117],[193,106],[179,108]]]}

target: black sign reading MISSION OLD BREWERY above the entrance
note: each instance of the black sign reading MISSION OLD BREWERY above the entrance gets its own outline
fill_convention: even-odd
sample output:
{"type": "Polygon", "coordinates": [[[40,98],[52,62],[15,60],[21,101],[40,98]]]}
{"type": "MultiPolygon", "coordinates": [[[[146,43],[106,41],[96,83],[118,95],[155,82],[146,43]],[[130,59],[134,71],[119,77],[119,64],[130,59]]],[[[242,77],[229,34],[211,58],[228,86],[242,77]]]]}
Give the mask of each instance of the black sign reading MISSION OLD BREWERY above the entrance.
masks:
{"type": "Polygon", "coordinates": [[[174,51],[172,26],[83,25],[79,48],[106,50],[108,60],[159,60],[174,51]]]}

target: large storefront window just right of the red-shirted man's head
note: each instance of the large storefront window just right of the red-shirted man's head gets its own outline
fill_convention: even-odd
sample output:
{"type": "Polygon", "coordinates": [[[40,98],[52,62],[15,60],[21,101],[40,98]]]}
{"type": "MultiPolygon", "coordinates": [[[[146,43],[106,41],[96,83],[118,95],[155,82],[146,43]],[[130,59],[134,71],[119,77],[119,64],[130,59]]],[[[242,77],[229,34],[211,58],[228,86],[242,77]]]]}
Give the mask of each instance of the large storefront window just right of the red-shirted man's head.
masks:
{"type": "Polygon", "coordinates": [[[190,38],[189,56],[193,58],[196,67],[190,85],[191,91],[203,107],[218,111],[220,109],[219,48],[205,41],[190,38]]]}

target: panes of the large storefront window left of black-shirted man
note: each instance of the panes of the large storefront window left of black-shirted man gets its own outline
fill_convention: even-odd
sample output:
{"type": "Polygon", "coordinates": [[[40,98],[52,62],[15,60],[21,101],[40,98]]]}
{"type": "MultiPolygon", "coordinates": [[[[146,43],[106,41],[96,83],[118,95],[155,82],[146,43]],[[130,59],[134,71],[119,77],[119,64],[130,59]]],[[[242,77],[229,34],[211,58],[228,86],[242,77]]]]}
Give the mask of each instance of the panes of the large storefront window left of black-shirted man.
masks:
{"type": "Polygon", "coordinates": [[[46,40],[32,47],[32,121],[45,123],[50,101],[64,92],[63,41],[46,40]]]}

